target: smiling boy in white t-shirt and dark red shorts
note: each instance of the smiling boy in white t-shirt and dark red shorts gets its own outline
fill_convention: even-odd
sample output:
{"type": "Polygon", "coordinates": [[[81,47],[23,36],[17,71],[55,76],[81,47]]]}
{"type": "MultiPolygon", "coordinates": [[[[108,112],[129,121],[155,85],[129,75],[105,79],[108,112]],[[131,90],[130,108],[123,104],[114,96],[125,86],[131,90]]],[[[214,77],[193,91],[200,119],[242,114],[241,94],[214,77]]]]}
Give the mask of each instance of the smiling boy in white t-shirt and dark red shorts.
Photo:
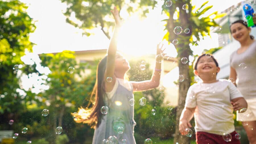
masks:
{"type": "Polygon", "coordinates": [[[212,55],[197,57],[193,69],[202,82],[189,87],[179,131],[187,134],[185,129],[192,127],[190,120],[194,114],[197,144],[240,144],[235,138],[233,109],[247,108],[245,99],[228,80],[216,80],[220,68],[212,55]],[[222,137],[224,133],[231,136],[222,137]]]}

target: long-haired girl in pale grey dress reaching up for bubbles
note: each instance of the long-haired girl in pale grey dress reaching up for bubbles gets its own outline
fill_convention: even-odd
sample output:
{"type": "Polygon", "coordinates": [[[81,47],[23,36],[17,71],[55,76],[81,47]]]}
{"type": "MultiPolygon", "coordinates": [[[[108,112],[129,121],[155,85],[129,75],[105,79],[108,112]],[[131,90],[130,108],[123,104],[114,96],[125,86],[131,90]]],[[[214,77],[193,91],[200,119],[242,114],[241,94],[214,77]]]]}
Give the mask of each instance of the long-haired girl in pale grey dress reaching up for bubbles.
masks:
{"type": "MultiPolygon", "coordinates": [[[[96,83],[90,98],[90,102],[93,101],[94,105],[90,109],[79,108],[75,121],[87,123],[95,128],[93,144],[101,144],[104,143],[103,141],[113,143],[126,141],[127,144],[135,144],[133,92],[158,87],[161,64],[156,62],[151,80],[142,82],[124,80],[124,75],[130,69],[130,65],[120,53],[117,53],[121,19],[116,7],[111,12],[115,18],[115,30],[107,55],[97,66],[96,83]]],[[[162,47],[160,44],[157,45],[156,55],[165,55],[162,47]]]]}

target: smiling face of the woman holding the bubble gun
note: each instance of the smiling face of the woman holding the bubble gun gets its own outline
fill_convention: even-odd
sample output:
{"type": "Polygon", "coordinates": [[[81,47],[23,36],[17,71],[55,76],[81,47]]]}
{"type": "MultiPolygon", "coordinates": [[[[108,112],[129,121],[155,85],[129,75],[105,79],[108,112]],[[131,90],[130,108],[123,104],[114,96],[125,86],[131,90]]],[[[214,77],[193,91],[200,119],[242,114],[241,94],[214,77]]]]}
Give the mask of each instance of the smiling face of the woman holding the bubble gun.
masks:
{"type": "Polygon", "coordinates": [[[251,28],[247,28],[241,23],[232,24],[230,27],[231,34],[237,41],[245,41],[250,38],[251,28]]]}

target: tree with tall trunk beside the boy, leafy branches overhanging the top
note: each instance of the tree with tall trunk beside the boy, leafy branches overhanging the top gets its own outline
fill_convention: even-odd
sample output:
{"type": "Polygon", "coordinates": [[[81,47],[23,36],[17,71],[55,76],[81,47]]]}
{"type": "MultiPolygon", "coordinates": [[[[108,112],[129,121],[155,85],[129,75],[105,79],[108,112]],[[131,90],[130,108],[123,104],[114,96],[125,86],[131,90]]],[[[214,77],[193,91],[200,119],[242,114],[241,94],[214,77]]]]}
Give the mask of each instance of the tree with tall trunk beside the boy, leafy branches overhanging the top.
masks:
{"type": "MultiPolygon", "coordinates": [[[[110,9],[113,5],[117,5],[119,9],[122,8],[125,1],[73,1],[73,0],[62,0],[62,2],[67,3],[68,9],[65,12],[67,16],[67,22],[77,26],[83,30],[91,29],[95,27],[101,27],[104,34],[109,37],[109,33],[104,31],[104,28],[109,28],[113,26],[113,22],[108,22],[104,20],[105,16],[110,15],[110,9]],[[82,25],[78,25],[75,22],[69,19],[71,12],[75,12],[76,18],[82,22],[82,25]]],[[[139,2],[135,0],[131,0],[130,4],[137,3],[139,7],[134,9],[130,5],[128,5],[127,11],[134,12],[138,9],[146,10],[142,12],[142,16],[148,12],[148,9],[153,8],[156,5],[156,1],[148,1],[141,0],[139,2]]],[[[185,57],[188,59],[189,55],[192,55],[192,50],[190,49],[189,43],[193,45],[197,45],[196,41],[193,41],[192,36],[195,36],[197,41],[200,40],[200,37],[205,37],[210,35],[210,27],[218,26],[214,21],[216,18],[220,18],[224,16],[224,14],[218,14],[218,12],[214,12],[209,16],[203,17],[212,6],[207,6],[207,2],[203,3],[201,7],[195,10],[195,6],[191,5],[191,0],[179,0],[172,1],[172,5],[170,7],[166,7],[165,3],[162,5],[162,12],[166,14],[169,18],[163,20],[166,22],[166,30],[168,31],[163,39],[166,39],[170,42],[172,40],[177,39],[179,43],[176,45],[177,50],[177,58],[178,66],[179,66],[179,74],[183,75],[185,80],[183,82],[179,82],[179,102],[177,107],[177,115],[176,115],[176,137],[174,142],[179,143],[189,143],[189,138],[186,136],[181,136],[179,133],[179,117],[185,105],[185,97],[187,90],[191,84],[191,74],[189,74],[189,64],[183,64],[181,62],[181,58],[185,57]],[[186,10],[183,10],[185,5],[186,10]],[[195,12],[193,12],[195,10],[195,12]],[[175,15],[175,17],[174,17],[175,15]],[[175,18],[175,19],[174,19],[175,18]],[[189,28],[190,32],[185,34],[181,33],[179,35],[173,34],[174,28],[176,26],[181,26],[183,29],[189,28]]],[[[88,34],[88,33],[87,33],[88,34]]]]}

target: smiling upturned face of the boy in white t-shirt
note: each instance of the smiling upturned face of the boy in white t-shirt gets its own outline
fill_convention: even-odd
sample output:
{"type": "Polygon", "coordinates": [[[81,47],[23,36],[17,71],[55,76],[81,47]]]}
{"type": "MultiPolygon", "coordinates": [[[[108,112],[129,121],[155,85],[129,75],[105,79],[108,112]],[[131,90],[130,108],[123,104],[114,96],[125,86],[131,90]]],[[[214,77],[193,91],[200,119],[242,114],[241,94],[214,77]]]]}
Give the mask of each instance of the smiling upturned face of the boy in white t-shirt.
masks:
{"type": "Polygon", "coordinates": [[[203,56],[197,63],[197,69],[194,70],[195,75],[201,79],[216,77],[216,73],[220,71],[220,68],[216,66],[212,57],[203,56]]]}

